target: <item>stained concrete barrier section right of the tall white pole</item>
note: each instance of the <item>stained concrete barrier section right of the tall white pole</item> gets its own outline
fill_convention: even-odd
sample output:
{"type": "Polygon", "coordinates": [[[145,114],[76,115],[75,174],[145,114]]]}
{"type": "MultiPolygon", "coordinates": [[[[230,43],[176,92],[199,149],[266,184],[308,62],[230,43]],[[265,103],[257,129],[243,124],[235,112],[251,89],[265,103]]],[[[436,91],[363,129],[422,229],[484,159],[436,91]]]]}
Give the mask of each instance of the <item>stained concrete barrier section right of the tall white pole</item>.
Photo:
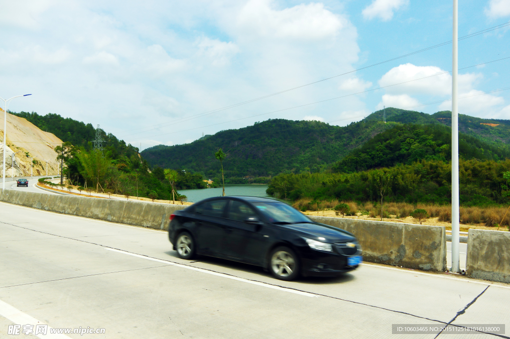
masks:
{"type": "Polygon", "coordinates": [[[470,229],[466,275],[510,283],[510,232],[470,229]]]}

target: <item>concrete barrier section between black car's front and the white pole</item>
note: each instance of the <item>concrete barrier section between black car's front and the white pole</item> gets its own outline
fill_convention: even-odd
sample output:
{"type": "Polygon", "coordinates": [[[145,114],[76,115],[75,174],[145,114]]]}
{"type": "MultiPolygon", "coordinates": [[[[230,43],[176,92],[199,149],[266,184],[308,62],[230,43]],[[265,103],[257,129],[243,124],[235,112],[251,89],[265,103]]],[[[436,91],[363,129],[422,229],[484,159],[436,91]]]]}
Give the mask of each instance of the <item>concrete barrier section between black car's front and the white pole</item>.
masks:
{"type": "Polygon", "coordinates": [[[446,270],[446,230],[394,222],[309,216],[351,232],[363,249],[363,260],[425,271],[446,270]]]}

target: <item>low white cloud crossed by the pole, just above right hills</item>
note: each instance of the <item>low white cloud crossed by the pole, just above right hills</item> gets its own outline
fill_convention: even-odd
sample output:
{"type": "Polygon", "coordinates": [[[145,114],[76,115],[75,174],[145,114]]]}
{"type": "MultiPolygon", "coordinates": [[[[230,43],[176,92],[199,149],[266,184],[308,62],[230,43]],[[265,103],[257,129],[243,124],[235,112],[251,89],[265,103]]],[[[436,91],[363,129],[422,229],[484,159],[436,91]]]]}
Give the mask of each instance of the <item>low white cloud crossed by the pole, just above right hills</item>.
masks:
{"type": "MultiPolygon", "coordinates": [[[[471,90],[459,94],[458,112],[487,118],[492,116],[497,111],[496,107],[503,105],[503,103],[504,99],[502,97],[486,94],[483,91],[471,90]]],[[[441,111],[451,110],[451,101],[441,103],[439,109],[441,111]]]]}

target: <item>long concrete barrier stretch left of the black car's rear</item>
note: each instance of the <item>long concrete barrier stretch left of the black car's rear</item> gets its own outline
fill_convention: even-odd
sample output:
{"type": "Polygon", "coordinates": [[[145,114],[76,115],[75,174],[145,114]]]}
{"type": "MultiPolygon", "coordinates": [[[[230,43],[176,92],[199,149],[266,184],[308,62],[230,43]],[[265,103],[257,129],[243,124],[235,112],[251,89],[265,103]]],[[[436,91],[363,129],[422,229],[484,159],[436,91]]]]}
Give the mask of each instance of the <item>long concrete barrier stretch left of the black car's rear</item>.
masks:
{"type": "Polygon", "coordinates": [[[15,190],[0,190],[0,201],[74,216],[143,226],[168,228],[170,215],[186,206],[114,199],[53,195],[15,190]]]}

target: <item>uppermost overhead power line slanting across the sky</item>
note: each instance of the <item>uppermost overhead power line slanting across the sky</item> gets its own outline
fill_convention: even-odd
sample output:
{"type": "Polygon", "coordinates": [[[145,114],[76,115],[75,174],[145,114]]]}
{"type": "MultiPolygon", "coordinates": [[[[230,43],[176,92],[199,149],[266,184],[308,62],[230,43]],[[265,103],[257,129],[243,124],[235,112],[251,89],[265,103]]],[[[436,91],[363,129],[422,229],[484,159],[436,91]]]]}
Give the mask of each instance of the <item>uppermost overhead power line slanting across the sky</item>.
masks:
{"type": "MultiPolygon", "coordinates": [[[[471,33],[471,34],[465,35],[463,37],[458,38],[458,41],[469,39],[469,38],[472,38],[472,37],[475,37],[475,36],[478,36],[478,35],[481,35],[481,34],[485,34],[485,33],[488,33],[488,32],[494,31],[494,30],[501,29],[503,27],[507,27],[507,26],[510,26],[510,22],[505,22],[505,23],[502,23],[502,24],[490,27],[490,28],[485,29],[485,30],[481,30],[481,31],[478,31],[478,32],[475,32],[475,33],[471,33]]],[[[168,124],[171,125],[171,124],[181,123],[181,122],[185,122],[185,121],[188,121],[188,120],[191,120],[191,119],[196,119],[196,118],[199,118],[199,117],[210,115],[210,114],[213,114],[213,113],[218,113],[218,112],[221,112],[221,111],[224,111],[224,110],[228,110],[228,109],[231,109],[231,108],[235,108],[235,107],[238,107],[238,106],[241,106],[241,105],[246,105],[247,103],[250,103],[250,102],[262,100],[262,99],[269,98],[269,97],[272,97],[272,96],[275,96],[275,95],[278,95],[278,94],[282,94],[282,93],[290,92],[290,91],[293,91],[293,90],[296,90],[296,89],[299,89],[299,88],[303,88],[303,87],[311,86],[311,85],[314,85],[314,84],[318,84],[318,83],[321,83],[321,82],[324,82],[324,81],[327,81],[327,80],[331,80],[331,79],[334,79],[334,78],[342,76],[342,75],[350,74],[350,73],[353,73],[353,72],[356,72],[356,71],[360,71],[360,70],[363,70],[363,69],[367,69],[367,68],[371,68],[371,67],[374,67],[374,66],[382,65],[382,64],[385,64],[385,63],[388,63],[388,62],[391,62],[391,61],[395,61],[395,60],[398,60],[398,59],[402,59],[402,58],[405,58],[405,57],[409,57],[409,56],[412,56],[412,55],[415,55],[415,54],[418,54],[418,53],[422,53],[424,51],[427,51],[427,50],[430,50],[430,49],[433,49],[433,48],[438,48],[438,47],[441,47],[441,46],[448,45],[450,43],[452,43],[452,40],[445,41],[445,42],[439,43],[437,45],[429,46],[429,47],[426,47],[426,48],[414,51],[412,53],[407,53],[407,54],[399,56],[399,57],[395,57],[395,58],[392,58],[392,59],[381,61],[381,62],[372,64],[372,65],[369,65],[369,66],[358,68],[358,69],[355,69],[355,70],[352,70],[352,71],[349,71],[349,72],[345,72],[345,73],[342,73],[342,74],[337,74],[337,75],[334,75],[334,76],[326,77],[326,78],[324,78],[322,80],[318,80],[318,81],[315,81],[315,82],[312,82],[312,83],[308,83],[308,84],[292,87],[292,88],[289,88],[289,89],[286,89],[286,90],[283,90],[283,91],[279,91],[279,92],[275,92],[275,93],[272,93],[272,94],[268,94],[268,95],[264,95],[264,96],[261,96],[261,97],[257,97],[257,98],[254,98],[254,99],[250,99],[250,100],[242,101],[242,102],[239,102],[239,103],[235,103],[234,105],[225,106],[225,107],[218,108],[218,109],[215,109],[215,110],[211,110],[211,111],[207,111],[207,112],[191,115],[189,117],[175,119],[175,120],[172,120],[172,121],[169,121],[169,122],[165,122],[165,123],[159,123],[159,124],[149,125],[149,126],[145,126],[145,127],[129,129],[126,132],[136,131],[137,129],[142,129],[142,128],[149,128],[149,127],[158,126],[156,128],[147,129],[147,131],[142,131],[142,132],[138,132],[138,133],[135,133],[135,134],[144,133],[144,132],[152,131],[152,129],[158,129],[158,128],[161,128],[163,126],[167,126],[168,124]]],[[[134,135],[134,134],[131,134],[131,135],[134,135]]],[[[122,136],[122,138],[124,138],[126,136],[130,136],[130,135],[122,136]]]]}

